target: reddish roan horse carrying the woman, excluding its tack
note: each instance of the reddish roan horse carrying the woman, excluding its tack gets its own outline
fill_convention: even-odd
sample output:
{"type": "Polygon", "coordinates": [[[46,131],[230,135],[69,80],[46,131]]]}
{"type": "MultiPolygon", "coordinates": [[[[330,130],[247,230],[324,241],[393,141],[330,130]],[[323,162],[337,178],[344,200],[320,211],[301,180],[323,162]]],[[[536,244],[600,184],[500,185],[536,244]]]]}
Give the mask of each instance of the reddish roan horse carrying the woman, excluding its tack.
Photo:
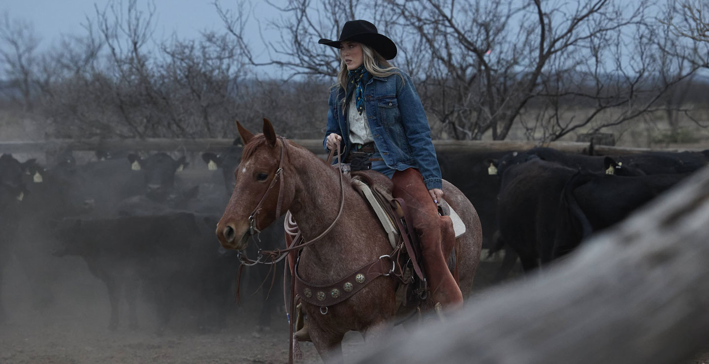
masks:
{"type": "MultiPolygon", "coordinates": [[[[250,215],[259,202],[262,202],[256,219],[259,229],[275,220],[279,207],[282,211],[290,210],[305,240],[328,229],[340,210],[340,172],[300,145],[278,137],[266,119],[262,135],[254,136],[240,124],[238,128],[245,148],[234,172],[234,191],[217,224],[216,234],[222,246],[226,249],[247,246],[252,234],[250,215]],[[279,180],[272,193],[267,194],[279,166],[282,168],[279,180]]],[[[371,207],[350,186],[349,177],[345,178],[345,208],[340,219],[322,239],[303,248],[300,256],[298,275],[313,285],[340,280],[364,263],[391,253],[384,228],[371,207]]],[[[445,199],[466,225],[466,232],[457,239],[456,261],[459,285],[467,298],[480,258],[480,221],[460,190],[447,181],[443,190],[445,199]]],[[[385,339],[394,325],[395,290],[395,279],[375,278],[348,300],[328,307],[326,314],[303,302],[311,339],[323,361],[342,360],[341,341],[347,331],[360,331],[368,342],[385,339]]]]}

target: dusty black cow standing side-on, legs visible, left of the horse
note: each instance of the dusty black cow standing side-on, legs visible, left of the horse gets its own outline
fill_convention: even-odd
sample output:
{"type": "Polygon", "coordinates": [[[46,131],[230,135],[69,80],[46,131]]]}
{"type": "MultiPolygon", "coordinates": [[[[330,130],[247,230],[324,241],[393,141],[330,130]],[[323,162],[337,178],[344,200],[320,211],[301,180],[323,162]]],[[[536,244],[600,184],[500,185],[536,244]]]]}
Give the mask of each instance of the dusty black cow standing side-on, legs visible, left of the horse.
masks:
{"type": "Polygon", "coordinates": [[[219,249],[213,223],[213,217],[173,210],[66,219],[57,227],[62,248],[55,255],[81,256],[89,271],[106,284],[111,330],[118,328],[123,298],[129,327],[138,327],[139,290],[155,305],[158,332],[181,308],[199,312],[200,326],[223,326],[236,265],[234,256],[219,249]]]}

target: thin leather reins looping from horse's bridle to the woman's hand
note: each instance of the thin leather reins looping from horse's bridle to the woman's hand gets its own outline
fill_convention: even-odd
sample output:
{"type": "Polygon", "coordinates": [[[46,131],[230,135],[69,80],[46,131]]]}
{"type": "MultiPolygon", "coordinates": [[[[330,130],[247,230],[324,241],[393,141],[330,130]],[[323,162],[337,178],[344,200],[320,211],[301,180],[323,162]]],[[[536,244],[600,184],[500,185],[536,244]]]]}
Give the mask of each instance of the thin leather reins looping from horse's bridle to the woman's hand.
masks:
{"type": "MultiPolygon", "coordinates": [[[[278,203],[276,206],[276,220],[281,217],[281,199],[282,199],[282,190],[283,190],[283,181],[284,181],[284,173],[283,173],[283,161],[284,161],[284,154],[285,154],[285,149],[286,149],[286,140],[283,137],[279,137],[281,140],[281,160],[279,161],[278,169],[276,171],[276,174],[273,177],[273,180],[271,181],[271,184],[269,185],[269,188],[267,188],[266,192],[262,196],[261,200],[259,201],[258,205],[256,205],[255,209],[253,212],[251,212],[251,215],[249,215],[249,234],[251,235],[251,239],[254,240],[254,243],[256,244],[256,240],[254,238],[255,235],[259,234],[261,230],[257,228],[257,222],[256,219],[261,213],[262,208],[261,206],[263,205],[264,201],[266,200],[267,196],[271,192],[272,188],[276,185],[277,181],[281,181],[279,183],[278,187],[278,203]]],[[[340,152],[340,142],[336,142],[335,149],[337,149],[337,173],[340,175],[340,210],[337,212],[337,217],[335,217],[335,220],[333,220],[333,223],[330,224],[330,226],[325,229],[324,232],[320,233],[317,237],[306,241],[302,244],[298,244],[298,239],[293,239],[293,243],[291,246],[287,247],[286,249],[274,249],[274,250],[262,250],[259,249],[258,252],[258,258],[256,260],[252,260],[248,258],[245,254],[242,254],[241,252],[238,254],[239,260],[241,261],[242,267],[243,266],[255,266],[256,264],[267,264],[267,265],[274,265],[282,261],[286,256],[291,251],[298,251],[303,248],[305,248],[308,245],[311,245],[323,237],[325,237],[330,230],[335,227],[335,224],[337,224],[337,221],[340,220],[340,217],[342,216],[342,210],[345,207],[345,181],[342,177],[342,153],[340,152]]],[[[328,165],[331,164],[333,160],[333,156],[335,155],[335,149],[330,149],[330,154],[328,154],[328,165]]],[[[286,229],[286,233],[289,234],[291,237],[297,237],[297,227],[295,225],[295,221],[293,220],[293,216],[290,214],[290,212],[286,213],[286,221],[284,222],[284,227],[286,229]]],[[[241,269],[240,269],[241,271],[241,269]]]]}

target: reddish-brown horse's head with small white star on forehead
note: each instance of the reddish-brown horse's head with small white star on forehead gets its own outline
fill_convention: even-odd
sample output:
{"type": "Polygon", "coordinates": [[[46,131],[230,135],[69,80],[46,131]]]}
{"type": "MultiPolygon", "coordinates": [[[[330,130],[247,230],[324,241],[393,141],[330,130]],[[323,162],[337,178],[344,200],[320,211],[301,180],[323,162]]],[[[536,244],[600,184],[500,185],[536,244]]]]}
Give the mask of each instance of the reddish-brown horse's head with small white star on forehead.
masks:
{"type": "Polygon", "coordinates": [[[225,249],[240,250],[246,248],[252,234],[288,210],[294,188],[284,183],[284,174],[289,173],[288,142],[276,135],[271,122],[264,119],[263,134],[259,135],[253,135],[239,122],[237,126],[244,150],[234,171],[235,187],[216,234],[225,249]]]}

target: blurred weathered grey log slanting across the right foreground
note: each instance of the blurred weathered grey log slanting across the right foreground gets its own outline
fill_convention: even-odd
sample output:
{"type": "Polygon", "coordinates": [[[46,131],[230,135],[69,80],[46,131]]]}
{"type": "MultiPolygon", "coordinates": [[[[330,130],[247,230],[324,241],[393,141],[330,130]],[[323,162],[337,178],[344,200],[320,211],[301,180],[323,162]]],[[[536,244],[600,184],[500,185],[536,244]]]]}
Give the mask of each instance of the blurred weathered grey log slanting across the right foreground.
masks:
{"type": "Polygon", "coordinates": [[[709,344],[708,262],[705,168],[540,275],[356,362],[683,363],[709,344]]]}

